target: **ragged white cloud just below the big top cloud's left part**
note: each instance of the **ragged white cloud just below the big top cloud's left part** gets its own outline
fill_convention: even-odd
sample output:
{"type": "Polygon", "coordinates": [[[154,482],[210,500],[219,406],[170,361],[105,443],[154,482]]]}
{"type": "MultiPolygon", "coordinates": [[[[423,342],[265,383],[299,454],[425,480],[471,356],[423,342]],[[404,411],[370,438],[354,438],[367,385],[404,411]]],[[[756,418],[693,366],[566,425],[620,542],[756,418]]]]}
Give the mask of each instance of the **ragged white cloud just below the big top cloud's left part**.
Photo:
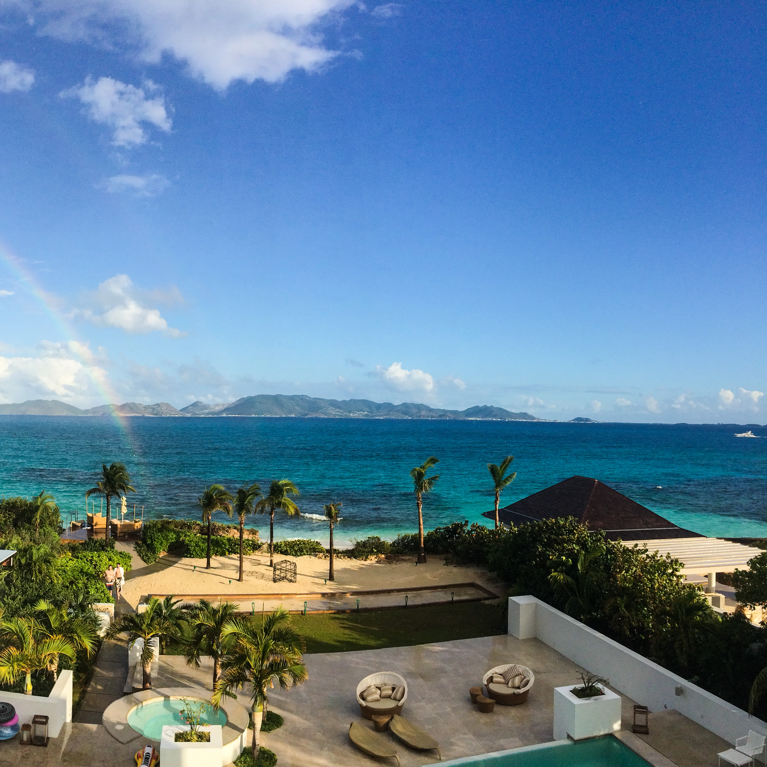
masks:
{"type": "Polygon", "coordinates": [[[137,88],[112,77],[99,77],[95,82],[92,77],[87,77],[84,84],[61,91],[59,95],[79,98],[94,123],[114,128],[114,146],[138,146],[147,140],[143,123],[166,133],[170,131],[172,123],[165,108],[165,97],[162,94],[152,98],[146,96],[157,91],[159,87],[151,80],[145,80],[143,88],[137,88]]]}

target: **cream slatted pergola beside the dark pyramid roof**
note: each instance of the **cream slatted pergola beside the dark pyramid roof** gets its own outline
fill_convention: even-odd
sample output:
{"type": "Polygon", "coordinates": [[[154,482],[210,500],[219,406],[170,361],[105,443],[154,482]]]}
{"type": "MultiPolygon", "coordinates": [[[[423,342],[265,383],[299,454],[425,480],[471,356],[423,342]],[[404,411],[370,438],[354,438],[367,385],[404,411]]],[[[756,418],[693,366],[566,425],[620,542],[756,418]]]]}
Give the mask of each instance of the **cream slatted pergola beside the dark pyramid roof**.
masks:
{"type": "Polygon", "coordinates": [[[708,578],[706,594],[716,591],[716,573],[748,570],[749,560],[761,553],[758,548],[722,538],[651,538],[623,543],[629,548],[638,544],[661,555],[670,554],[683,563],[683,575],[705,575],[708,578]]]}

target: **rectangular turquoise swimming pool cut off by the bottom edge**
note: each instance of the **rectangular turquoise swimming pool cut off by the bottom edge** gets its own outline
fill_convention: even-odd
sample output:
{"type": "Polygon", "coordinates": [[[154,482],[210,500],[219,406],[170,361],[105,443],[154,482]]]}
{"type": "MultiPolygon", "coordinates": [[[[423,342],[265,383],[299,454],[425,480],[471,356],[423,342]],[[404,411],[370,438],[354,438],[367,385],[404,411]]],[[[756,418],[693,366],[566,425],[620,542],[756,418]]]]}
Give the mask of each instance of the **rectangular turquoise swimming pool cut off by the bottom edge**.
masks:
{"type": "Polygon", "coordinates": [[[624,746],[616,737],[607,735],[588,740],[555,741],[540,746],[467,756],[443,762],[466,767],[647,767],[642,757],[624,746]]]}

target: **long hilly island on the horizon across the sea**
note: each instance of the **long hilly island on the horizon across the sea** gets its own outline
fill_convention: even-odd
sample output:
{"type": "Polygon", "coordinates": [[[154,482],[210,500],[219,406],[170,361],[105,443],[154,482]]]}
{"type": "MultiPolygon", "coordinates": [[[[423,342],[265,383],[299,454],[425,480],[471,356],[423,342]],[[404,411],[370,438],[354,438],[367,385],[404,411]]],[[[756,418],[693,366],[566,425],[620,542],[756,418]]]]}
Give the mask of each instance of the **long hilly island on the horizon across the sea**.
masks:
{"type": "Polygon", "coordinates": [[[166,402],[143,405],[99,405],[81,410],[59,400],[27,400],[0,405],[0,416],[267,416],[272,418],[423,418],[482,421],[543,421],[530,413],[512,413],[493,405],[476,405],[466,410],[442,410],[413,402],[394,405],[370,400],[322,400],[304,394],[256,394],[236,402],[209,405],[201,401],[177,410],[166,402]]]}

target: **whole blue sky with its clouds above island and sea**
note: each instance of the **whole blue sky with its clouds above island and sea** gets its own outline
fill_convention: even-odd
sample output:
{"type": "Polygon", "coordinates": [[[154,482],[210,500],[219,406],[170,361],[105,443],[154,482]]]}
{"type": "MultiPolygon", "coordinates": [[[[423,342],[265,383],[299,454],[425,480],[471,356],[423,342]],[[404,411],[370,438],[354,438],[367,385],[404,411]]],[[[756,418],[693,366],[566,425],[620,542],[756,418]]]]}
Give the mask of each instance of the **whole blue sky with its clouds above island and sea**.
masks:
{"type": "Polygon", "coordinates": [[[765,421],[763,4],[0,17],[0,401],[765,421]]]}

